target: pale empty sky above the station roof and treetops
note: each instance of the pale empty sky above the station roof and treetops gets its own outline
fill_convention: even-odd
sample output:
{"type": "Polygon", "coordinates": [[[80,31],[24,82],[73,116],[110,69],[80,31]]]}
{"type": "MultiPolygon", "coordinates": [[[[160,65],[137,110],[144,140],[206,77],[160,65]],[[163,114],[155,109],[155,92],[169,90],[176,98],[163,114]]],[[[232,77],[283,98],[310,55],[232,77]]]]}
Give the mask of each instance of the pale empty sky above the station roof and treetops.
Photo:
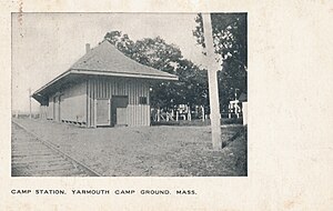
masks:
{"type": "MultiPolygon", "coordinates": [[[[200,64],[202,48],[192,30],[196,13],[12,13],[12,110],[29,111],[32,93],[67,71],[108,31],[130,39],[155,38],[178,46],[184,58],[200,64]]],[[[32,99],[32,111],[39,103],[32,99]]]]}

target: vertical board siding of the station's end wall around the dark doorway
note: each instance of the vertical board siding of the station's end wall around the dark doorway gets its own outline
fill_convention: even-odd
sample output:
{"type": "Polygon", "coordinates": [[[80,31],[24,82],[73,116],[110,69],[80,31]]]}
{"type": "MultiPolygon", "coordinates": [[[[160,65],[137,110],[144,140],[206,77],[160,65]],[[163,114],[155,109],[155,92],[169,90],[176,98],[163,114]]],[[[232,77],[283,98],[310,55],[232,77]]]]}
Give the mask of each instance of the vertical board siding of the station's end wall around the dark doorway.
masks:
{"type": "Polygon", "coordinates": [[[127,108],[128,125],[150,125],[149,83],[143,80],[124,79],[89,79],[88,110],[90,113],[89,127],[94,125],[94,99],[111,99],[112,96],[128,96],[127,108]],[[147,97],[148,104],[139,104],[139,97],[147,97]]]}

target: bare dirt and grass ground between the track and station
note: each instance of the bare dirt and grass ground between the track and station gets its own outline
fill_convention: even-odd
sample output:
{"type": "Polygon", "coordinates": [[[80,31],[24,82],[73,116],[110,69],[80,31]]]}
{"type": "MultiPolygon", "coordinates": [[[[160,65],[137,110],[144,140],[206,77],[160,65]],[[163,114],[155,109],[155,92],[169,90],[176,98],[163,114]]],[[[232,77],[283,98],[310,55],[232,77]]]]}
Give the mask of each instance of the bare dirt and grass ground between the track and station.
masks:
{"type": "Polygon", "coordinates": [[[85,129],[47,120],[14,121],[102,175],[248,174],[246,129],[243,127],[222,127],[222,140],[228,144],[221,151],[213,151],[210,127],[85,129]]]}

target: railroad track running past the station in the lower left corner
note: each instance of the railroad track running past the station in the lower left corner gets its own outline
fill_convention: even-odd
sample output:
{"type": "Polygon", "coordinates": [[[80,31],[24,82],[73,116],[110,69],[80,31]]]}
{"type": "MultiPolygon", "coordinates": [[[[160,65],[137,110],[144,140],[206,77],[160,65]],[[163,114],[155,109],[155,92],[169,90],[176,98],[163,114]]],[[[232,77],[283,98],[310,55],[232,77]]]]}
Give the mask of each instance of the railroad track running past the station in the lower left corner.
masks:
{"type": "Polygon", "coordinates": [[[11,135],[12,177],[101,175],[14,121],[11,135]]]}

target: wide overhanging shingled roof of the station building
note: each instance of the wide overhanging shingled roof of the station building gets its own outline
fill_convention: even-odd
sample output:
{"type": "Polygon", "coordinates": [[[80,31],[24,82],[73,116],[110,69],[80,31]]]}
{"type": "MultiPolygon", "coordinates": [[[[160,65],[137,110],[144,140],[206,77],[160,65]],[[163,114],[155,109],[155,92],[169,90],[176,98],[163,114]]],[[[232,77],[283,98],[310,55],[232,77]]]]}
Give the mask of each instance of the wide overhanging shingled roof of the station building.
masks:
{"type": "Polygon", "coordinates": [[[54,92],[62,84],[78,80],[82,76],[178,80],[174,74],[143,66],[128,58],[109,41],[104,40],[98,47],[89,50],[69,70],[37,90],[32,97],[39,102],[44,101],[47,93],[54,92]]]}

